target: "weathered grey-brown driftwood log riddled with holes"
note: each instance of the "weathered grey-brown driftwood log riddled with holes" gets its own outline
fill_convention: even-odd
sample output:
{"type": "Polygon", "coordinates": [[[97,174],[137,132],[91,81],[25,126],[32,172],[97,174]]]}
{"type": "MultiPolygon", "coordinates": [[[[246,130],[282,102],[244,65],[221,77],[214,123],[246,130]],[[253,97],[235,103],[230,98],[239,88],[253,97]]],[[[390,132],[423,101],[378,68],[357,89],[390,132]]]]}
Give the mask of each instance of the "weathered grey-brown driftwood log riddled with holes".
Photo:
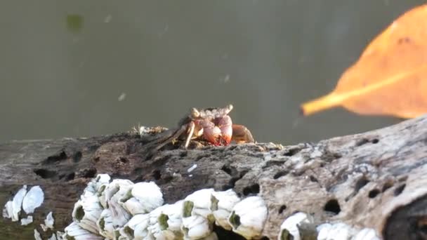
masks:
{"type": "Polygon", "coordinates": [[[0,239],[33,239],[49,211],[55,230],[63,230],[82,189],[98,173],[153,180],[167,203],[209,187],[232,188],[242,197],[258,194],[268,204],[268,239],[276,239],[282,221],[296,211],[310,213],[319,224],[372,227],[383,239],[427,238],[427,116],[285,147],[162,149],[147,157],[147,145],[131,133],[0,145],[1,206],[22,185],[40,185],[45,193],[32,224],[0,218],[0,239]],[[193,164],[197,168],[188,173],[193,164]]]}

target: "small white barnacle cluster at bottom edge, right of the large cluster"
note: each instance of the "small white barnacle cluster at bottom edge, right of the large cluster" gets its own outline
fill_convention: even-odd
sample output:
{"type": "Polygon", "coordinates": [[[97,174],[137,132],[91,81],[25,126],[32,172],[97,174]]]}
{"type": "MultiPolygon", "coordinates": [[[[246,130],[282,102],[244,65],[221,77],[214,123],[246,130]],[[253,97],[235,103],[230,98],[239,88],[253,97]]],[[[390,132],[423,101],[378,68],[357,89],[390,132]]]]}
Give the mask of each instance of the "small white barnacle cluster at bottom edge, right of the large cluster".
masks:
{"type": "Polygon", "coordinates": [[[280,234],[277,239],[313,239],[315,236],[317,240],[379,240],[374,229],[360,229],[342,222],[324,223],[310,231],[312,227],[315,225],[311,215],[301,212],[294,213],[285,219],[280,226],[280,234]]]}

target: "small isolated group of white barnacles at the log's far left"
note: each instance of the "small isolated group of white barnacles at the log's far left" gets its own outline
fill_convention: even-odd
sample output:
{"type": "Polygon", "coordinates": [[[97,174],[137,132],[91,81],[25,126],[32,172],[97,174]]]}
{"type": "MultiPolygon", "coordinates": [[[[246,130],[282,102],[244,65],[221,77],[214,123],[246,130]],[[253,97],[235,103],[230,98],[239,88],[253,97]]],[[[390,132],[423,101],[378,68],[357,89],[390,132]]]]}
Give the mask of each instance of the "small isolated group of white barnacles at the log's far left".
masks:
{"type": "Polygon", "coordinates": [[[39,186],[34,186],[27,191],[27,185],[24,185],[13,196],[13,199],[8,201],[3,208],[3,217],[11,218],[13,222],[20,220],[21,210],[26,214],[26,218],[21,218],[22,225],[28,225],[32,222],[32,214],[34,210],[41,206],[44,201],[43,190],[39,186]]]}

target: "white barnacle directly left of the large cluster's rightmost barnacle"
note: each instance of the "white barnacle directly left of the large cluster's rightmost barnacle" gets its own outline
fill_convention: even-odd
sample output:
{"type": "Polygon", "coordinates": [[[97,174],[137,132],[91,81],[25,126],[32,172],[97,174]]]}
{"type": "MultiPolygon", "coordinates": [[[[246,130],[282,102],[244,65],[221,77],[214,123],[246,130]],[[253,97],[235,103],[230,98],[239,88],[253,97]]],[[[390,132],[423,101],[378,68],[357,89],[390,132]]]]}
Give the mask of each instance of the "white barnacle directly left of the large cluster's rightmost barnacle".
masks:
{"type": "Polygon", "coordinates": [[[216,225],[223,227],[224,229],[232,229],[232,226],[228,222],[228,216],[232,211],[232,208],[240,201],[239,196],[232,190],[228,189],[223,192],[213,192],[211,196],[211,209],[213,217],[215,218],[216,225]]]}

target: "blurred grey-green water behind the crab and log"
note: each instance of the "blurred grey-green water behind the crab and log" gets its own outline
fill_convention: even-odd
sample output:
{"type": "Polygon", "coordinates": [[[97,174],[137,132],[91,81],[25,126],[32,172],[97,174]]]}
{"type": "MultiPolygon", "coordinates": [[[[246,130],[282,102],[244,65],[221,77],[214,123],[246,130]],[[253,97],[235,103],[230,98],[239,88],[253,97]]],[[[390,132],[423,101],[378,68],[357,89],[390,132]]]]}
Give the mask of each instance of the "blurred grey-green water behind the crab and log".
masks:
{"type": "Polygon", "coordinates": [[[175,126],[235,105],[258,141],[292,144],[398,122],[298,105],[421,0],[7,1],[0,8],[0,142],[175,126]]]}

